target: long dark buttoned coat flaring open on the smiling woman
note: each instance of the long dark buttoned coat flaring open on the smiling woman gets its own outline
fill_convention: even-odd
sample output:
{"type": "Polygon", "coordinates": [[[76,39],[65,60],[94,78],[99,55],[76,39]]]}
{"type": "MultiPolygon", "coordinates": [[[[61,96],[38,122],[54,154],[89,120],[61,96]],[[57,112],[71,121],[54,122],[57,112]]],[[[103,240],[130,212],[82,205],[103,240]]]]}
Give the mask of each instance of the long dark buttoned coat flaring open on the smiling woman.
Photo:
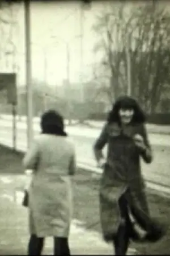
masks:
{"type": "Polygon", "coordinates": [[[122,129],[117,123],[107,123],[94,146],[97,161],[103,157],[102,150],[106,144],[107,160],[100,183],[100,219],[104,239],[114,236],[122,221],[119,204],[122,195],[130,212],[133,212],[133,217],[142,223],[143,228],[150,231],[153,220],[148,209],[140,164],[141,157],[146,163],[152,162],[145,125],[139,123],[122,129]],[[135,146],[135,134],[142,135],[146,151],[139,151],[135,146]]]}

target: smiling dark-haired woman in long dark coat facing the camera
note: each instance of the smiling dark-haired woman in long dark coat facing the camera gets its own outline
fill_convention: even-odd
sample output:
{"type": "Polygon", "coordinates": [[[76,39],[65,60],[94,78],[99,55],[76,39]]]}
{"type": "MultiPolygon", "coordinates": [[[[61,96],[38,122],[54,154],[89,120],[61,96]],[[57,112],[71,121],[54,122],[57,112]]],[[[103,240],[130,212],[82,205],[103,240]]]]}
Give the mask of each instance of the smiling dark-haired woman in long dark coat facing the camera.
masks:
{"type": "Polygon", "coordinates": [[[113,105],[94,146],[100,181],[100,220],[103,237],[113,242],[116,255],[126,255],[130,240],[156,242],[165,230],[151,218],[140,158],[152,162],[145,114],[137,101],[122,96],[113,105]],[[107,144],[107,159],[103,148],[107,144]],[[138,232],[135,228],[138,226],[138,232]]]}

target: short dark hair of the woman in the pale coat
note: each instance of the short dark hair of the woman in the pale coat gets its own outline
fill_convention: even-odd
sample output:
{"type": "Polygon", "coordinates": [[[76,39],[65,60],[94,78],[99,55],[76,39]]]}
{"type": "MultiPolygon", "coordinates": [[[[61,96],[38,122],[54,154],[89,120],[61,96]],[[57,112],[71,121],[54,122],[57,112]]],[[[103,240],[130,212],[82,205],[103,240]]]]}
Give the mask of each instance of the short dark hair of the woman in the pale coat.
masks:
{"type": "Polygon", "coordinates": [[[67,136],[63,117],[56,110],[48,110],[42,114],[40,125],[43,134],[67,136]]]}

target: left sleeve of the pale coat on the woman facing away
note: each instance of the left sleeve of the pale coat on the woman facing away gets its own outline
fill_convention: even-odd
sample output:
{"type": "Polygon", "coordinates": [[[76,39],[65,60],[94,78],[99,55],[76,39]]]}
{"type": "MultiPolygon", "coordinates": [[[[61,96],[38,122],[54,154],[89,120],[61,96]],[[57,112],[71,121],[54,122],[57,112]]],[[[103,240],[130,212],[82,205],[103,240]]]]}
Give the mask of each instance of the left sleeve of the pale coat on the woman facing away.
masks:
{"type": "Polygon", "coordinates": [[[27,153],[23,159],[24,168],[30,170],[36,170],[37,163],[39,159],[39,145],[37,141],[33,141],[31,147],[28,149],[27,153]]]}

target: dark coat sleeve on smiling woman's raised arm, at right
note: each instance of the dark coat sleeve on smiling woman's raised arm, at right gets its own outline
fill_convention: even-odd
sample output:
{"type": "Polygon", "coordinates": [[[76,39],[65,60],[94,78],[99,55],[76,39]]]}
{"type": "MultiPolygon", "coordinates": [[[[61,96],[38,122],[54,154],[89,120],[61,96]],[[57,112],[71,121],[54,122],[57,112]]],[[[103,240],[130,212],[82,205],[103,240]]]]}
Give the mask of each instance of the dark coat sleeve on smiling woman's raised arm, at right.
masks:
{"type": "Polygon", "coordinates": [[[148,135],[147,135],[147,131],[146,131],[146,126],[142,125],[142,136],[144,139],[144,143],[146,145],[146,150],[141,152],[141,156],[143,158],[143,160],[146,163],[151,163],[153,156],[152,156],[152,149],[151,149],[151,145],[150,142],[148,140],[148,135]]]}

